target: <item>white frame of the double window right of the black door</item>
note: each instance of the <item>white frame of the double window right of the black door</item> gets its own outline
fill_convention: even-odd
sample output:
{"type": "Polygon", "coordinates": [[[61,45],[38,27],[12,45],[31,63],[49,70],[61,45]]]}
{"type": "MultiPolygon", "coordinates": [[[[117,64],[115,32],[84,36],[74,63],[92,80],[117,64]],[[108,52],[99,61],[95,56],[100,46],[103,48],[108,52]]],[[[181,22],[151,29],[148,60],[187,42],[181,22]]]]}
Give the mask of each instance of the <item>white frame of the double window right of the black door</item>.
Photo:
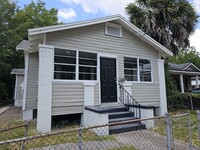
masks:
{"type": "MultiPolygon", "coordinates": [[[[124,63],[124,57],[130,57],[130,56],[123,56],[123,63],[124,63]]],[[[137,81],[125,81],[127,83],[153,83],[153,68],[152,68],[152,59],[151,58],[144,58],[144,57],[131,57],[137,59],[137,81]],[[140,68],[139,68],[139,60],[140,59],[146,59],[150,61],[151,64],[151,81],[140,81],[140,68]]],[[[124,72],[124,78],[125,78],[125,72],[124,72]]]]}

